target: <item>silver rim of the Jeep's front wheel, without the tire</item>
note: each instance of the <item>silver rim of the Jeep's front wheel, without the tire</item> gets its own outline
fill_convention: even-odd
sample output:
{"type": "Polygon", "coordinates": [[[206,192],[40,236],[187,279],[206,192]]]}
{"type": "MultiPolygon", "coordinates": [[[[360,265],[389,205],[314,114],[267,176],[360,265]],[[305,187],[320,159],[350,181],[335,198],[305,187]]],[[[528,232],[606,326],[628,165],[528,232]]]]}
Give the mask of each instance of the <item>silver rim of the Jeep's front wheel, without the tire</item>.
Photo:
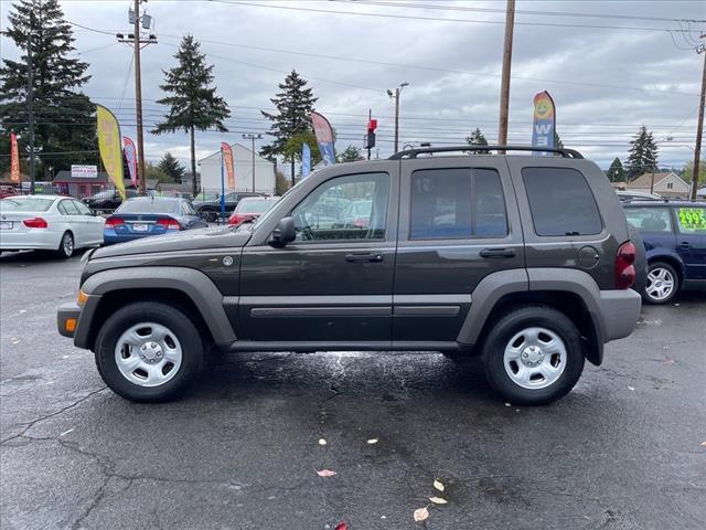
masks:
{"type": "Polygon", "coordinates": [[[140,322],[127,329],[115,347],[115,362],[125,379],[139,386],[159,386],[179,372],[182,348],[165,326],[140,322]]]}

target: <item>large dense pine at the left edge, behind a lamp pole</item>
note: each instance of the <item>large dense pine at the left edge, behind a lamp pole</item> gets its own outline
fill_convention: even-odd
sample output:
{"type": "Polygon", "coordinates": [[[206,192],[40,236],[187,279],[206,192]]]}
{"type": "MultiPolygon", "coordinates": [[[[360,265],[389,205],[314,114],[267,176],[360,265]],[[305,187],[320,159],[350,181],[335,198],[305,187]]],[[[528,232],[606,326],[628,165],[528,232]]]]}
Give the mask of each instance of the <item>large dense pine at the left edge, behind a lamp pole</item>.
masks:
{"type": "MultiPolygon", "coordinates": [[[[18,134],[20,153],[29,147],[28,50],[32,51],[32,95],[36,174],[96,162],[95,107],[78,92],[90,78],[88,64],[69,55],[75,50],[71,25],[57,0],[20,0],[8,14],[6,35],[21,51],[20,61],[6,59],[0,67],[0,153],[9,155],[10,132],[18,134]],[[71,155],[49,155],[71,152],[71,155]]],[[[0,173],[9,167],[0,157],[0,173]]]]}

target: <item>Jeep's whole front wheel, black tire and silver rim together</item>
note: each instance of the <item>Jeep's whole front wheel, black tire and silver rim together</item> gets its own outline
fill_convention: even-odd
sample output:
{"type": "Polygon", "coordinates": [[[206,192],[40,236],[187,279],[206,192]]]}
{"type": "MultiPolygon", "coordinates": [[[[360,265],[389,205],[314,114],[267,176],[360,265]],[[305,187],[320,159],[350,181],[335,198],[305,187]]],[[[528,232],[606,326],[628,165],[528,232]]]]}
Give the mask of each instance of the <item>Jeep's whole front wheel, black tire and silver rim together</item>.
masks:
{"type": "Polygon", "coordinates": [[[203,342],[192,320],[165,304],[145,301],[118,309],[96,338],[100,377],[131,401],[178,398],[203,365],[203,342]]]}

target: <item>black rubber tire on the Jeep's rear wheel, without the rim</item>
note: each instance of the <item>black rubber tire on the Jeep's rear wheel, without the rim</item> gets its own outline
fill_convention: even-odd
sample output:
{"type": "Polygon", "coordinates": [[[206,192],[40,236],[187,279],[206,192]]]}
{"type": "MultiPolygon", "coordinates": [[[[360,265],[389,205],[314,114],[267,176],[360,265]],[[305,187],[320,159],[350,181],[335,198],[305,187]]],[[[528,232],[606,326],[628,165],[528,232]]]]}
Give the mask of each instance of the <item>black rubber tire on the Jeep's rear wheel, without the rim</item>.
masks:
{"type": "MultiPolygon", "coordinates": [[[[482,353],[488,382],[505,401],[514,405],[552,403],[568,394],[584,371],[584,352],[578,329],[563,312],[547,306],[520,306],[502,316],[485,337],[482,353]],[[560,339],[566,351],[564,370],[556,380],[544,388],[523,388],[511,379],[505,370],[505,348],[515,336],[531,328],[542,328],[554,333],[560,339]]],[[[558,354],[552,356],[552,359],[556,361],[558,354]]],[[[556,362],[558,365],[559,362],[556,362]]],[[[539,381],[537,384],[543,383],[539,381]]]]}

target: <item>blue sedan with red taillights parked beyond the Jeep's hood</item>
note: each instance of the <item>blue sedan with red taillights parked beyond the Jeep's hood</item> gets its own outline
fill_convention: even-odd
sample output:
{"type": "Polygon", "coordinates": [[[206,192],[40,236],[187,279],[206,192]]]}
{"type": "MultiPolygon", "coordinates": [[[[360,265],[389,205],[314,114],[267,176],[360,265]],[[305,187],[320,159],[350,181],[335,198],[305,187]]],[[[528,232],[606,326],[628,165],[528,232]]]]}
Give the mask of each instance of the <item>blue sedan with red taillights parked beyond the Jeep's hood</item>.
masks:
{"type": "Polygon", "coordinates": [[[106,219],[105,244],[208,226],[185,199],[136,197],[106,219]]]}

